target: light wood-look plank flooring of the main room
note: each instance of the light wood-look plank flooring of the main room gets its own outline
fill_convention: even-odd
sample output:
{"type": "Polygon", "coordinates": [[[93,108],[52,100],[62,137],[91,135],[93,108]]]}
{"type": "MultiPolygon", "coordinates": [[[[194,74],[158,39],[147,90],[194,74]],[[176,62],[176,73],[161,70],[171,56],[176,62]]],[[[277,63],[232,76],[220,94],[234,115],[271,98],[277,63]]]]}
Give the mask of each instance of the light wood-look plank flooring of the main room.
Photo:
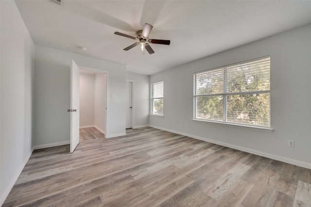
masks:
{"type": "Polygon", "coordinates": [[[310,207],[311,170],[151,127],[35,150],[3,207],[310,207]]]}

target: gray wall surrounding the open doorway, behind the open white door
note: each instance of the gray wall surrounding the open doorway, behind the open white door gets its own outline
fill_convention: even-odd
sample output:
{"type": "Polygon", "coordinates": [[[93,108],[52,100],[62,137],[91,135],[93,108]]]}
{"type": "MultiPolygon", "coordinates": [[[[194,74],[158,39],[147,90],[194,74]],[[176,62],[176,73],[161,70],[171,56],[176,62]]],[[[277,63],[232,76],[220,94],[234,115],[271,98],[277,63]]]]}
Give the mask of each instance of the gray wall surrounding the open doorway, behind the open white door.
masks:
{"type": "Polygon", "coordinates": [[[35,46],[34,145],[69,141],[72,59],[79,66],[108,71],[108,136],[125,134],[125,65],[35,46]]]}

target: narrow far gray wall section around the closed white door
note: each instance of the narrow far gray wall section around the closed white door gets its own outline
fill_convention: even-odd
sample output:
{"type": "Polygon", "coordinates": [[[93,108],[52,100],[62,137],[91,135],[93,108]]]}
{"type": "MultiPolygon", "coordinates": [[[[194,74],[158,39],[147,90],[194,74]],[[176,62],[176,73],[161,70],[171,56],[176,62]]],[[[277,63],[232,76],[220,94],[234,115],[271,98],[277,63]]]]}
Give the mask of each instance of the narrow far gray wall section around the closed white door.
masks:
{"type": "Polygon", "coordinates": [[[132,116],[133,128],[149,125],[149,76],[126,73],[126,79],[132,80],[132,116]]]}

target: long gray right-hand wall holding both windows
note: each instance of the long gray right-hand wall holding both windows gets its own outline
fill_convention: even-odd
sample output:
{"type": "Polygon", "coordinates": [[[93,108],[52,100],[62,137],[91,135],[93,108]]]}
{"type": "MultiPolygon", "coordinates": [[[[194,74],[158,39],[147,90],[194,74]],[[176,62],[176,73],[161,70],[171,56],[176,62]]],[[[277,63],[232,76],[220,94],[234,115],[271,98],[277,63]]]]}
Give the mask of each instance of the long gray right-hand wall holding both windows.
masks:
{"type": "Polygon", "coordinates": [[[311,168],[311,25],[152,75],[164,80],[164,117],[150,125],[311,168]],[[193,73],[271,56],[272,132],[192,121],[193,73]],[[182,127],[184,123],[184,127],[182,127]],[[294,140],[295,147],[287,146],[294,140]]]}

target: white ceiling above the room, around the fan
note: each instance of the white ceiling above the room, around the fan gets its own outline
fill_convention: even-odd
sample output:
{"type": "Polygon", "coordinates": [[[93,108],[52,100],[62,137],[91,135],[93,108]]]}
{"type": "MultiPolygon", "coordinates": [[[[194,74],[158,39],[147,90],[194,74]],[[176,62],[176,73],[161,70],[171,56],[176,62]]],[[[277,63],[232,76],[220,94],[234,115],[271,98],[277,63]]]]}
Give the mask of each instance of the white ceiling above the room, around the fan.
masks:
{"type": "Polygon", "coordinates": [[[36,45],[127,65],[151,75],[230,48],[311,23],[311,0],[16,0],[36,45]],[[145,23],[154,54],[140,57],[136,40],[145,23]],[[78,47],[87,48],[81,51],[78,47]]]}

